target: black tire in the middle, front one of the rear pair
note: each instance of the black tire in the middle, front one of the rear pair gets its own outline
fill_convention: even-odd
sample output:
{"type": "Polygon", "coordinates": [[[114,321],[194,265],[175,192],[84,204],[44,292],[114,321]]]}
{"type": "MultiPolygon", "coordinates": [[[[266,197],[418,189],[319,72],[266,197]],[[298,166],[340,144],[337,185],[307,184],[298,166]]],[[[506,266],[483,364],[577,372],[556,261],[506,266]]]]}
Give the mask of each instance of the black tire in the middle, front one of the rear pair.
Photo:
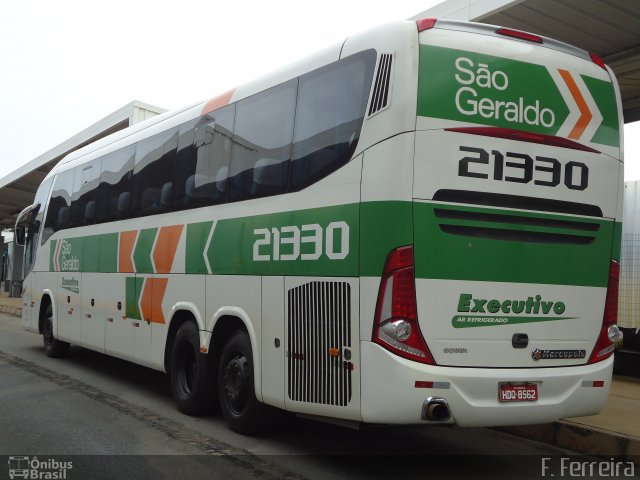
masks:
{"type": "Polygon", "coordinates": [[[194,322],[176,333],[169,364],[171,392],[178,410],[202,415],[215,407],[215,371],[209,355],[200,352],[200,333],[194,322]]]}

